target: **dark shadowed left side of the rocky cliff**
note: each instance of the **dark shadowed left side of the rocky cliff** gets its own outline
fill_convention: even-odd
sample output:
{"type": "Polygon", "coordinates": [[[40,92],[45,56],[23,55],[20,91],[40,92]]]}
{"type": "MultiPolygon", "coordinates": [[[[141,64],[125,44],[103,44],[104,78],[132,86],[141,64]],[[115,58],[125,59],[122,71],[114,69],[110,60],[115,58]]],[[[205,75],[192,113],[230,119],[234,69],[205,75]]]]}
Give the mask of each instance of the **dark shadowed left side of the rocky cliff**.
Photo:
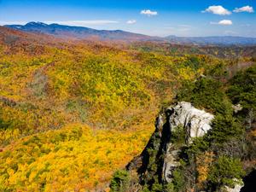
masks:
{"type": "Polygon", "coordinates": [[[172,113],[172,110],[167,110],[162,114],[162,117],[155,119],[155,131],[150,137],[147,146],[142,154],[134,158],[126,166],[128,170],[137,169],[137,173],[143,176],[140,178],[141,184],[151,186],[155,182],[162,182],[162,167],[167,150],[166,146],[172,134],[169,123],[172,113]],[[154,165],[157,165],[156,169],[153,167],[154,165]]]}

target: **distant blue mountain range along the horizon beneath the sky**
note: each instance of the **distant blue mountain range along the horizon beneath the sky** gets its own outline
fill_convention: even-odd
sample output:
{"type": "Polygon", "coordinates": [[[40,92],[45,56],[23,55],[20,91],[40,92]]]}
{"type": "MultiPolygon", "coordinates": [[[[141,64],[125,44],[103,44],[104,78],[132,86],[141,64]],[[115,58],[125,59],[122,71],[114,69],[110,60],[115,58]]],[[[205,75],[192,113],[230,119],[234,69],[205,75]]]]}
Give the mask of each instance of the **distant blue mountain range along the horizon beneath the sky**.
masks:
{"type": "Polygon", "coordinates": [[[172,44],[199,44],[199,45],[231,45],[256,44],[256,38],[244,38],[234,36],[216,36],[216,37],[177,37],[168,36],[166,38],[152,37],[133,32],[121,30],[96,30],[82,26],[63,26],[59,24],[47,25],[42,22],[29,22],[26,25],[7,25],[6,27],[20,30],[23,32],[44,33],[53,35],[55,38],[71,39],[95,39],[95,40],[115,40],[115,41],[159,41],[172,44]]]}

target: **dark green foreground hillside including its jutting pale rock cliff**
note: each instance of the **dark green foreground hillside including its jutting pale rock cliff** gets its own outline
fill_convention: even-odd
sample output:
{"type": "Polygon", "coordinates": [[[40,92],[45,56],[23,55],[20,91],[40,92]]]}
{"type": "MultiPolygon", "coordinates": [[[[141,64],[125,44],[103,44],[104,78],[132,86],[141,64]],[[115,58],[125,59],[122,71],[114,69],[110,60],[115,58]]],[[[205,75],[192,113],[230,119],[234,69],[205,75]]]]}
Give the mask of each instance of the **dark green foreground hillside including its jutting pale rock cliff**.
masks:
{"type": "Polygon", "coordinates": [[[256,65],[231,79],[217,68],[184,81],[143,153],[114,173],[112,191],[255,190],[256,65]]]}

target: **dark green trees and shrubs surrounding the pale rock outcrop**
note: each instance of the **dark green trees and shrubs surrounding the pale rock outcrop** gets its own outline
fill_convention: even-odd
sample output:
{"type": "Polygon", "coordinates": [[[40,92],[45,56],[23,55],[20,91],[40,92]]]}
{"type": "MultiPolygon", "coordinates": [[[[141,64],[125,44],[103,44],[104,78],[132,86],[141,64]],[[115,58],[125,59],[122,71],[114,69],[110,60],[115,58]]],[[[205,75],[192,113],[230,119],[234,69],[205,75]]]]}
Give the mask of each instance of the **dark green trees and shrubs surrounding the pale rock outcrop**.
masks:
{"type": "Polygon", "coordinates": [[[137,172],[129,168],[129,172],[115,172],[112,191],[233,191],[228,188],[237,184],[244,186],[241,191],[254,191],[256,66],[231,78],[229,72],[217,65],[195,81],[185,80],[172,100],[172,103],[191,102],[215,116],[212,129],[189,143],[183,126],[169,133],[172,151],[180,150],[172,182],[165,182],[162,176],[165,157],[160,150],[165,149],[158,148],[162,143],[156,130],[142,154],[143,159],[148,158],[147,171],[142,172],[145,168],[139,166],[137,172]],[[251,183],[247,183],[247,175],[251,175],[251,183]]]}

